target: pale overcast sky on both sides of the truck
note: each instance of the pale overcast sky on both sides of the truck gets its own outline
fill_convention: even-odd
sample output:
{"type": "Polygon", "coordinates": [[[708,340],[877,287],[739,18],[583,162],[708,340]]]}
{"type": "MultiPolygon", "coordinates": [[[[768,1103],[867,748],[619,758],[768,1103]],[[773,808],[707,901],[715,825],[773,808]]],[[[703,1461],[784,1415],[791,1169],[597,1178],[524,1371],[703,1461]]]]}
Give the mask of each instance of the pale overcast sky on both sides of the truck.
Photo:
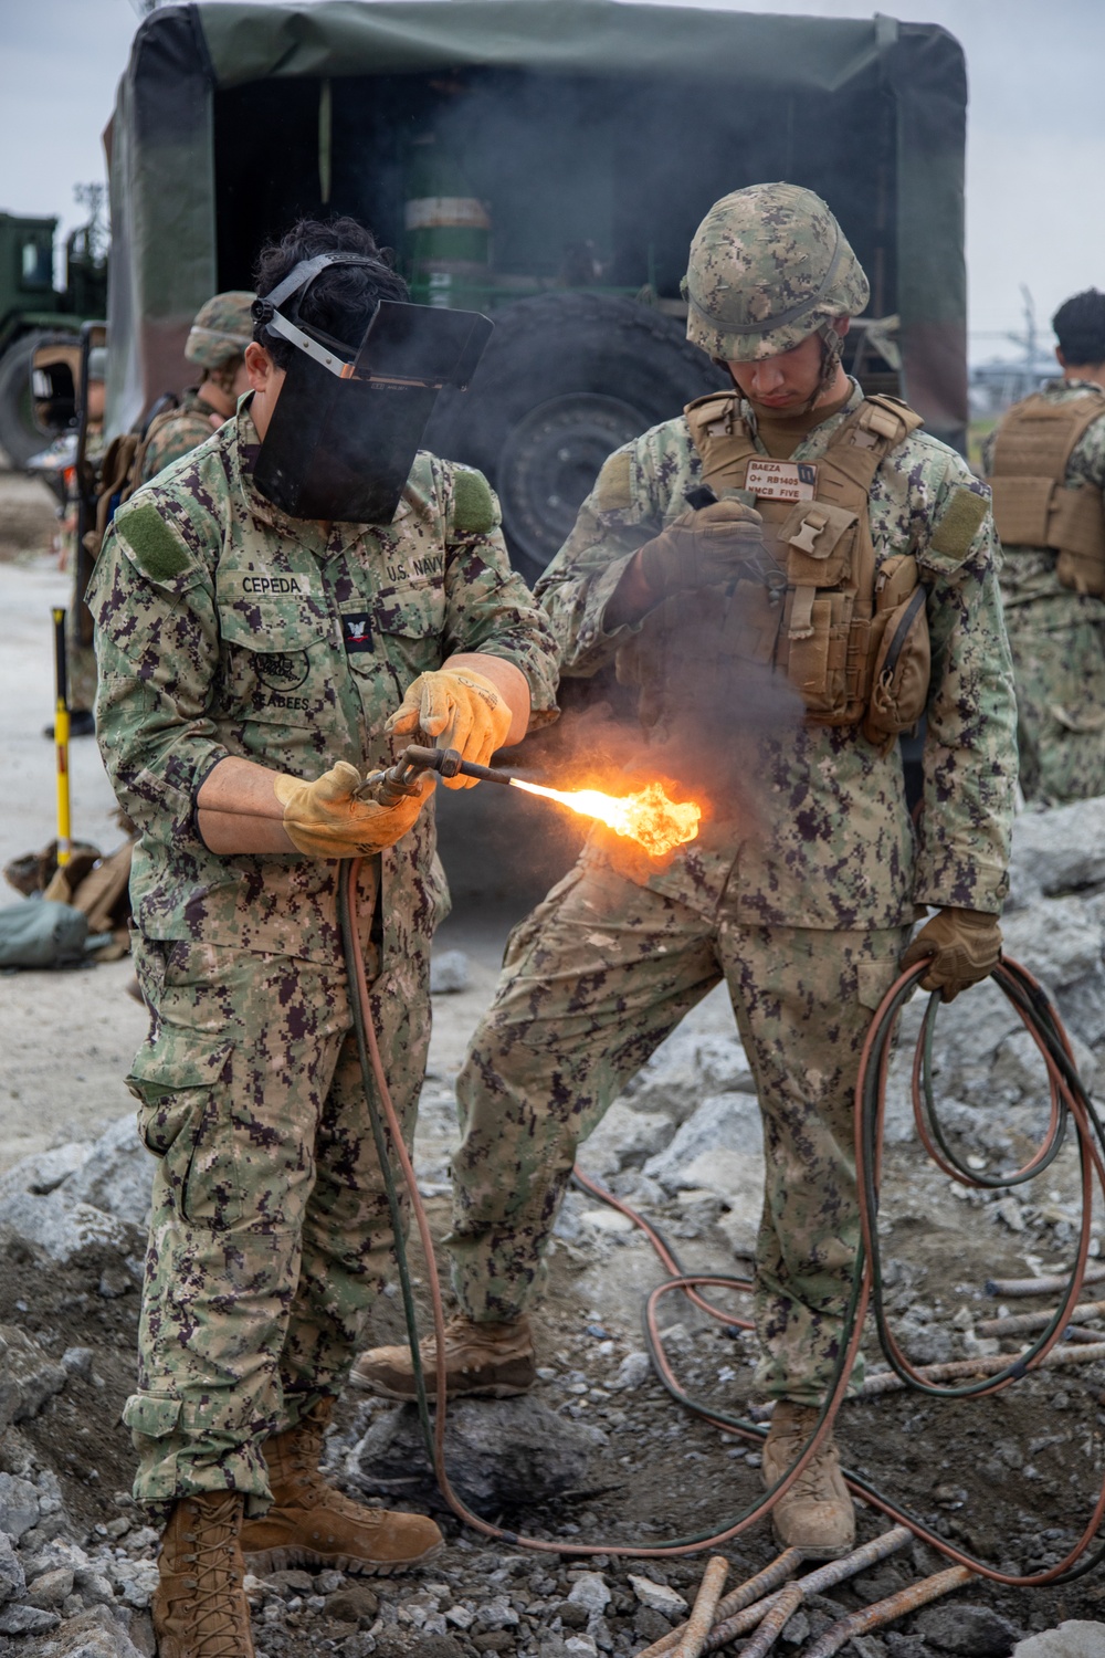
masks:
{"type": "MultiPolygon", "coordinates": [[[[875,8],[775,0],[736,10],[875,8]]],[[[1067,295],[1105,287],[1105,0],[886,0],[886,10],[943,23],[964,46],[971,355],[1012,353],[1001,335],[1022,327],[1021,284],[1045,333],[1067,295]]],[[[136,27],[131,0],[0,0],[0,209],[80,222],[73,184],[103,177],[99,134],[136,27]]]]}

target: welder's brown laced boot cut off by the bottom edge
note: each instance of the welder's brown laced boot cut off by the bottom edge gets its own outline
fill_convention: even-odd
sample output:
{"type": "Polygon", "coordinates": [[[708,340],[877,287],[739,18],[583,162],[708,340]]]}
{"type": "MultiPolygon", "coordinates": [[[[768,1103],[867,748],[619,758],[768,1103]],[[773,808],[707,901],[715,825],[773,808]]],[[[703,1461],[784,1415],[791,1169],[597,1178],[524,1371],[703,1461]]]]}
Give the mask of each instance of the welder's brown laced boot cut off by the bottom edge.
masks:
{"type": "Polygon", "coordinates": [[[151,1612],[159,1658],[253,1658],[239,1542],[242,1496],[181,1497],[161,1539],[151,1612]]]}

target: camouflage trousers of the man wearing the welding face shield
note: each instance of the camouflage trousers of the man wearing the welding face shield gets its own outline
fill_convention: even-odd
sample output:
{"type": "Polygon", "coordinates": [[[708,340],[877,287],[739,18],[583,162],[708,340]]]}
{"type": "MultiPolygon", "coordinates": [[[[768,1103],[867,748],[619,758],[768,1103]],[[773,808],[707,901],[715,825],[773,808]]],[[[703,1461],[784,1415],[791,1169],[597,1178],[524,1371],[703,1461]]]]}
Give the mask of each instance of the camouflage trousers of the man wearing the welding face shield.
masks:
{"type": "MultiPolygon", "coordinates": [[[[371,972],[371,967],[369,967],[371,972]]],[[[139,1331],[134,1494],[270,1500],[262,1442],[336,1394],[393,1237],[345,972],[144,943],[156,1008],[131,1071],[157,1157],[139,1331]]],[[[424,960],[371,987],[404,1137],[429,1041],[424,960]]]]}

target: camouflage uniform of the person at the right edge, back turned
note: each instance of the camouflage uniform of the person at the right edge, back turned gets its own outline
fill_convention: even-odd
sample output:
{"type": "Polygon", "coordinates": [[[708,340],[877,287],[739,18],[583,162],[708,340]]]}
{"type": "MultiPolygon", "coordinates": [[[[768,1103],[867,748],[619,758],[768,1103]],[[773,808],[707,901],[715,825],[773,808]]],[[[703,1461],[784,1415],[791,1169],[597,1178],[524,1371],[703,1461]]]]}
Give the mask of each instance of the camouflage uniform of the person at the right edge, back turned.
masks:
{"type": "MultiPolygon", "coordinates": [[[[1054,380],[1049,403],[1095,390],[1054,380]]],[[[986,443],[991,471],[996,434],[986,443]]],[[[1105,489],[1105,408],[1078,438],[1069,479],[1105,489]]],[[[1105,794],[1105,600],[1064,587],[1047,547],[1002,547],[1001,592],[1017,686],[1017,746],[1025,799],[1082,801],[1105,794]]]]}

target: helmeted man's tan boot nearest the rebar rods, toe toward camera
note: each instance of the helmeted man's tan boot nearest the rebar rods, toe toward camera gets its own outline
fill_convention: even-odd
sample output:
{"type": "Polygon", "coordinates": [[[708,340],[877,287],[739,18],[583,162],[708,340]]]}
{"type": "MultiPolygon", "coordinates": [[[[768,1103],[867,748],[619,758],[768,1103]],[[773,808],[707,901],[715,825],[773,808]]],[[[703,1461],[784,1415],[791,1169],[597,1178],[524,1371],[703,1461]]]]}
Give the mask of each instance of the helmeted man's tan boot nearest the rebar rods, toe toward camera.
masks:
{"type": "MultiPolygon", "coordinates": [[[[764,1486],[770,1489],[799,1461],[822,1413],[813,1404],[780,1399],[764,1441],[764,1486]]],[[[772,1509],[780,1549],[800,1549],[810,1560],[837,1560],[855,1549],[855,1509],[840,1472],[832,1433],[772,1509]]]]}

